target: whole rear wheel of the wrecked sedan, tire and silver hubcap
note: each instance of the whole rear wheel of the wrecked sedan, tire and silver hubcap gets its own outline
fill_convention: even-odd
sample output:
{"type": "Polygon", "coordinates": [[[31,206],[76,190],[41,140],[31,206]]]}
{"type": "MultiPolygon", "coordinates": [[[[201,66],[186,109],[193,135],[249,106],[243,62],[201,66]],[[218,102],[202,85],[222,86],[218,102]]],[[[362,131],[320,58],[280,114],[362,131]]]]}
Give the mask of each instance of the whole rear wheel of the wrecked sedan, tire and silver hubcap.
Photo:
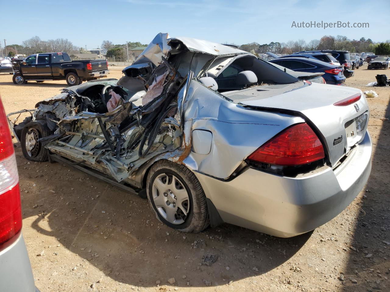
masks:
{"type": "Polygon", "coordinates": [[[209,225],[206,195],[195,174],[184,165],[156,162],[146,187],[152,211],[162,223],[183,232],[200,232],[209,225]]]}

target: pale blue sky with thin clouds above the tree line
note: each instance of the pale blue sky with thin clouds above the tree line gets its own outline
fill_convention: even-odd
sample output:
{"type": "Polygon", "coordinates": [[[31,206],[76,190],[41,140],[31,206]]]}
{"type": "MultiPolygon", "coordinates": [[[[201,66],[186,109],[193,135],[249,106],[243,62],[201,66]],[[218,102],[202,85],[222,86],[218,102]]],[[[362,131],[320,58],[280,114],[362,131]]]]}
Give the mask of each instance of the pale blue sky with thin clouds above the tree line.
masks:
{"type": "MultiPolygon", "coordinates": [[[[102,40],[114,44],[128,41],[149,43],[159,32],[220,43],[260,44],[271,41],[320,39],[323,35],[346,35],[374,41],[390,39],[389,0],[110,0],[48,1],[18,0],[18,9],[2,13],[0,33],[7,44],[21,44],[35,35],[42,40],[67,38],[87,49],[102,40]],[[335,5],[332,5],[335,4],[335,5]],[[372,17],[381,11],[382,17],[372,17]],[[368,22],[369,28],[291,28],[293,21],[368,22]]],[[[4,46],[4,41],[2,40],[4,46]]]]}

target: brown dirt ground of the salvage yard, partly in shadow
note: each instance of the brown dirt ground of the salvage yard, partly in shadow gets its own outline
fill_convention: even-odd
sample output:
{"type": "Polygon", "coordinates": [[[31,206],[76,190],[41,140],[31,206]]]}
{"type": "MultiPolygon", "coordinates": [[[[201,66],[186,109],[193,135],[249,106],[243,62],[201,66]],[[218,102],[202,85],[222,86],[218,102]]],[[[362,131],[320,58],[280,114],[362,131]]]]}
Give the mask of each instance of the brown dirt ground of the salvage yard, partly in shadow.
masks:
{"type": "MultiPolygon", "coordinates": [[[[138,196],[71,166],[30,164],[18,146],[23,235],[35,285],[41,292],[390,291],[390,121],[380,120],[390,118],[390,87],[364,87],[376,74],[390,77],[390,70],[366,68],[355,70],[347,85],[379,94],[368,99],[369,182],[339,216],[293,238],[228,224],[176,232],[138,196]],[[207,253],[219,255],[210,267],[200,265],[207,253]]],[[[121,69],[110,67],[109,77],[121,77],[121,69]]],[[[32,109],[64,87],[65,81],[14,85],[11,75],[0,75],[7,113],[32,109]]]]}

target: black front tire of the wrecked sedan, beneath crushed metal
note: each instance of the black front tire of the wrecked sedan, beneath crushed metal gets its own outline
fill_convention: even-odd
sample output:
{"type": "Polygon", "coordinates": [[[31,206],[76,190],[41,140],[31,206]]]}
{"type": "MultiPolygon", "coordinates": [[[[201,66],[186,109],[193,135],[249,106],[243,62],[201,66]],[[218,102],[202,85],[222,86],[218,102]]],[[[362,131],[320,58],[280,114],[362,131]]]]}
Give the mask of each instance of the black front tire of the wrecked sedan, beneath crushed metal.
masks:
{"type": "Polygon", "coordinates": [[[42,144],[38,141],[35,142],[34,148],[30,150],[30,154],[26,149],[26,137],[28,134],[36,134],[34,135],[35,140],[46,137],[50,135],[50,131],[47,127],[45,121],[37,120],[32,121],[25,125],[22,129],[21,137],[20,137],[20,146],[22,148],[23,156],[27,160],[36,161],[36,162],[44,162],[48,160],[48,150],[42,146],[42,144]]]}

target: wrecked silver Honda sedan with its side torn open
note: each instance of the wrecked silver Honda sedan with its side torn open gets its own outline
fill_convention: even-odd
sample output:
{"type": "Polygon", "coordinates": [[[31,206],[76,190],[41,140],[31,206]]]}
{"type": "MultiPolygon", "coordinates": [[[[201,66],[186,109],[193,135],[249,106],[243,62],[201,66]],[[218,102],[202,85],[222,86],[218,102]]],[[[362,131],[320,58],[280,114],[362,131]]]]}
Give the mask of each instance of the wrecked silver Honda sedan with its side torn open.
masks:
{"type": "Polygon", "coordinates": [[[24,156],[139,193],[184,232],[227,222],[302,234],[338,215],[369,177],[360,90],[166,33],[123,74],[65,88],[14,121],[24,156]]]}

